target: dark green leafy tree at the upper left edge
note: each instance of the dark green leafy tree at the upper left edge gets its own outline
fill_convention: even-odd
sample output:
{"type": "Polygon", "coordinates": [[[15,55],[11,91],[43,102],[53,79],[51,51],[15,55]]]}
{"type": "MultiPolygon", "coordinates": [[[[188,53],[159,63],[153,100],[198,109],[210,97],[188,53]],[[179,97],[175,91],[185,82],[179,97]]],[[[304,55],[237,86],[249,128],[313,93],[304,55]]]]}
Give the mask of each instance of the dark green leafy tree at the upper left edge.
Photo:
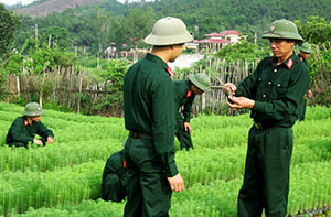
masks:
{"type": "Polygon", "coordinates": [[[11,52],[20,19],[0,3],[0,59],[6,59],[11,52]]]}

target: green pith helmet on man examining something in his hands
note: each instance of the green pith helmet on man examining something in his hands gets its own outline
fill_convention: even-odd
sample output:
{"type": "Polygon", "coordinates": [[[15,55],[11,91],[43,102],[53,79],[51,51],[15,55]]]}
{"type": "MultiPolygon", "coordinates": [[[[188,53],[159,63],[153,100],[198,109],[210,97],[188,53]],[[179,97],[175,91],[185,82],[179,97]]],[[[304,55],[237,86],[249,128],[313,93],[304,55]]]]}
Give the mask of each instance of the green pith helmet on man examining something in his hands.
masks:
{"type": "Polygon", "coordinates": [[[289,20],[276,20],[271,23],[270,30],[265,32],[263,39],[286,39],[302,42],[297,25],[289,20]]]}

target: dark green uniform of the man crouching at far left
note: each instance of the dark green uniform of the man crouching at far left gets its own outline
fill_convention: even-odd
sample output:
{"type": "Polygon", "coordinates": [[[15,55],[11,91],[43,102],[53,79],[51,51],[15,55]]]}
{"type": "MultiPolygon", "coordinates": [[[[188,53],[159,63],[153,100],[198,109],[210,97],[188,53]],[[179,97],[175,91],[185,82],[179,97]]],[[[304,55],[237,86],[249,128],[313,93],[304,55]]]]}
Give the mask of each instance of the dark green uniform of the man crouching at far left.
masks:
{"type": "Polygon", "coordinates": [[[6,143],[10,147],[25,147],[33,142],[35,134],[41,137],[43,144],[46,144],[47,137],[54,138],[52,130],[47,129],[41,121],[32,122],[30,126],[26,116],[17,118],[11,124],[6,143]]]}

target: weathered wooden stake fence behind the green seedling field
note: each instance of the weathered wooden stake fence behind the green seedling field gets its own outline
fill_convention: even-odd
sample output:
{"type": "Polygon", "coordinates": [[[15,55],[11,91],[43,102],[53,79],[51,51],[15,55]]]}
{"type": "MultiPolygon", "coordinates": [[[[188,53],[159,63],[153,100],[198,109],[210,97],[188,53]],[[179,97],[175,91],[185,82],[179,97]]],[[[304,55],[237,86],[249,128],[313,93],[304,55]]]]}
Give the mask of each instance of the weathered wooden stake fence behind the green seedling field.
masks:
{"type": "MultiPolygon", "coordinates": [[[[204,111],[207,113],[228,113],[229,110],[225,106],[226,97],[221,89],[221,83],[237,83],[246,77],[257,66],[258,62],[237,62],[228,64],[218,58],[210,58],[204,66],[192,67],[188,73],[177,73],[174,70],[174,79],[186,79],[190,74],[205,73],[211,77],[211,89],[202,96],[197,96],[193,105],[194,113],[204,111]]],[[[111,84],[102,82],[94,74],[85,72],[83,68],[63,68],[56,67],[54,72],[44,73],[42,75],[8,75],[7,101],[14,97],[22,97],[25,101],[39,99],[53,101],[60,105],[66,105],[73,108],[77,113],[81,112],[82,97],[86,98],[89,104],[95,105],[113,95],[108,87],[111,84]]],[[[111,108],[110,108],[111,109],[111,108]]],[[[114,109],[114,108],[113,108],[114,109]]],[[[106,113],[122,116],[121,111],[108,111],[106,113]]],[[[104,111],[105,112],[105,109],[104,111]]],[[[103,113],[99,112],[99,113],[103,113]]]]}

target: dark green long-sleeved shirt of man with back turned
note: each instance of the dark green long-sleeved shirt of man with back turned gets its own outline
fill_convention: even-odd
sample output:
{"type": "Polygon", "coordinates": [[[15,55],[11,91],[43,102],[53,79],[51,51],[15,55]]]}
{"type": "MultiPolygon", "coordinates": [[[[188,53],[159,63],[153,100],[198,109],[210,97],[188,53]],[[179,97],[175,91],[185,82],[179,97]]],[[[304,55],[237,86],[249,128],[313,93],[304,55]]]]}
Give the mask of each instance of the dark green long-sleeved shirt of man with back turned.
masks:
{"type": "Polygon", "coordinates": [[[152,135],[164,175],[177,175],[174,84],[161,58],[148,53],[128,69],[124,78],[124,107],[126,129],[152,135]]]}

